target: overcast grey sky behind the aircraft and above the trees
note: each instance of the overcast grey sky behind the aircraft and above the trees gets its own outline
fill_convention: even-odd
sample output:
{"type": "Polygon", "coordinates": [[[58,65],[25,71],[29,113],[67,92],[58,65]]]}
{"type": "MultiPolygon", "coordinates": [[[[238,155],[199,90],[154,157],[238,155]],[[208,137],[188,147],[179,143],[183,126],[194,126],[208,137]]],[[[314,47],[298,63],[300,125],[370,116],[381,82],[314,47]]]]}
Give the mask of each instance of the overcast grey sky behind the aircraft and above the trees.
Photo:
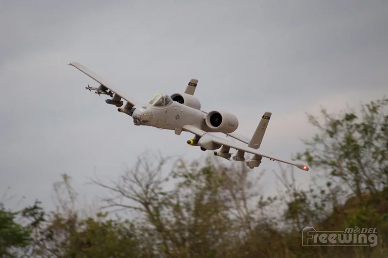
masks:
{"type": "MultiPolygon", "coordinates": [[[[116,179],[137,155],[204,155],[189,133],[134,126],[85,91],[78,61],[136,99],[183,92],[239,118],[250,137],[273,112],[262,152],[290,159],[313,134],[305,112],[337,112],[381,97],[388,82],[388,1],[0,0],[0,192],[52,207],[67,173],[88,198],[94,169],[116,179]]],[[[275,189],[265,160],[263,191],[275,189]]],[[[296,169],[300,182],[314,173],[296,169]]]]}

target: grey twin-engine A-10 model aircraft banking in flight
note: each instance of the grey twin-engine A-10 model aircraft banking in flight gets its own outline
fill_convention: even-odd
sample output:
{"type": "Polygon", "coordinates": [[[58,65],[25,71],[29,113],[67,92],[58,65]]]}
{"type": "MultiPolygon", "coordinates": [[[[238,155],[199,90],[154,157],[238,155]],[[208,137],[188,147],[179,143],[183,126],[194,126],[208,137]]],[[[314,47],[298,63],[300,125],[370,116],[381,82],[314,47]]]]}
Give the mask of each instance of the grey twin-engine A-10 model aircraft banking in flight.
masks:
{"type": "Polygon", "coordinates": [[[199,146],[202,151],[220,149],[214,152],[214,155],[227,160],[230,160],[232,156],[232,153],[229,153],[230,148],[236,149],[237,153],[232,159],[245,161],[250,168],[259,167],[262,157],[265,157],[308,171],[308,167],[303,164],[285,161],[258,151],[272,113],[265,112],[263,114],[251,139],[238,135],[235,131],[239,126],[239,121],[235,115],[221,110],[213,110],[208,113],[201,110],[201,103],[194,97],[197,79],[190,80],[184,93],[174,93],[170,96],[157,93],[147,103],[141,103],[117,90],[105,79],[80,63],[71,62],[69,65],[74,66],[100,84],[98,88],[88,86],[86,90],[93,90],[98,95],[111,96],[111,99],[107,99],[105,102],[117,106],[119,112],[131,116],[135,125],[174,130],[177,135],[180,135],[182,131],[190,132],[194,134],[194,138],[187,141],[189,145],[199,146]],[[125,105],[122,99],[127,102],[125,105]],[[124,107],[122,107],[123,105],[124,107]],[[224,133],[240,142],[229,141],[210,133],[224,133]],[[253,154],[253,158],[245,160],[245,152],[253,154]]]}

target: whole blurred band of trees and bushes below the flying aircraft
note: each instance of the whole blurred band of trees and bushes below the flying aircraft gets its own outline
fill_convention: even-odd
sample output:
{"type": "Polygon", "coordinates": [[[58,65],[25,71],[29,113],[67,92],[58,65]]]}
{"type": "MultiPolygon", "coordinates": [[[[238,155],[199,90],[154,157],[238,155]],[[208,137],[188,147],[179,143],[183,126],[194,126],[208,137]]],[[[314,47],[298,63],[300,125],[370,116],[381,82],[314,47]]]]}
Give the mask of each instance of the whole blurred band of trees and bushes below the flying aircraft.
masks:
{"type": "Polygon", "coordinates": [[[296,158],[315,177],[301,188],[292,169],[280,168],[272,197],[259,191],[263,173],[244,163],[177,159],[166,169],[171,158],[145,153],[116,181],[92,180],[110,194],[88,213],[63,175],[54,183],[56,211],[39,201],[20,212],[1,206],[0,257],[388,257],[387,105],[382,98],[359,112],[308,115],[317,132],[296,158]],[[305,227],[376,228],[378,244],[303,246],[305,227]]]}

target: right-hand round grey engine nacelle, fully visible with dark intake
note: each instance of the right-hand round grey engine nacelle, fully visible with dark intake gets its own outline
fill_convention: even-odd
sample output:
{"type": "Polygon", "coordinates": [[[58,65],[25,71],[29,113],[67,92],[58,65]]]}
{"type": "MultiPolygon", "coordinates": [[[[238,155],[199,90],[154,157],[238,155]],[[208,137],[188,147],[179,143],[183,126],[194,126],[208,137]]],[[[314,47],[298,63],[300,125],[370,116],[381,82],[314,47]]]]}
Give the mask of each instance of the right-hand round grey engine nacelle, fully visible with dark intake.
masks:
{"type": "Polygon", "coordinates": [[[216,132],[229,134],[239,127],[239,120],[233,114],[225,111],[211,111],[205,117],[205,123],[216,132]]]}

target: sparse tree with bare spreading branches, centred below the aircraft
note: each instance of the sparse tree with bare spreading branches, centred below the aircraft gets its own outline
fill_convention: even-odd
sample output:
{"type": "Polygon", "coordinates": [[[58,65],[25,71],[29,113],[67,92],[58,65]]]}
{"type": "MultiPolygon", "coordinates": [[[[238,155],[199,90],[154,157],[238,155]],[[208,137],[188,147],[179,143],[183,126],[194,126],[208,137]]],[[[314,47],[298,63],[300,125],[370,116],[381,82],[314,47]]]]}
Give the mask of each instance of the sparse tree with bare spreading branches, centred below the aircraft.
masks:
{"type": "Polygon", "coordinates": [[[258,175],[210,160],[201,165],[178,159],[167,173],[165,164],[143,155],[116,183],[94,180],[113,193],[104,207],[136,212],[153,237],[149,252],[158,257],[236,257],[233,248],[258,222],[252,202],[259,197],[258,175]]]}

